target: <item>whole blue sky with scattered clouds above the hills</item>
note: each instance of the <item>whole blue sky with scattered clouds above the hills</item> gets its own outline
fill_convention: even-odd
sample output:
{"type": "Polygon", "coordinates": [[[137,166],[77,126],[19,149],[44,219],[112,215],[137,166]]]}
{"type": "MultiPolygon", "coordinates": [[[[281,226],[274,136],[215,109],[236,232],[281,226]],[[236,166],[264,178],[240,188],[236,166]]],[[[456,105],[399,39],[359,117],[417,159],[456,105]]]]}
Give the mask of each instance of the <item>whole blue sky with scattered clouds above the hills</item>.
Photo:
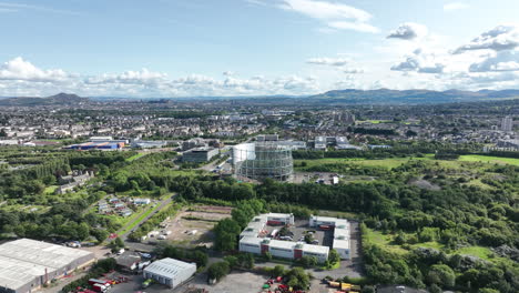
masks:
{"type": "Polygon", "coordinates": [[[519,89],[517,0],[0,0],[0,97],[519,89]]]}

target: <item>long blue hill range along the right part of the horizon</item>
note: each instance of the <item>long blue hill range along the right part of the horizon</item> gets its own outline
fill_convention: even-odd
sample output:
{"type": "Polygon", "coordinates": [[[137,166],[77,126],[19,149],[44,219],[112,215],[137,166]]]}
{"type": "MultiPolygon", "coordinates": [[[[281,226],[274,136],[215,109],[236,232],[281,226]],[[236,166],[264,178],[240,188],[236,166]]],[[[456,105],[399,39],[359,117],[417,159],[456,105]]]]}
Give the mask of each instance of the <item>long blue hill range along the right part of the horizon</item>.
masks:
{"type": "Polygon", "coordinates": [[[429,90],[335,90],[306,98],[311,103],[348,103],[348,104],[420,104],[476,102],[519,98],[519,90],[491,91],[429,91],[429,90]]]}

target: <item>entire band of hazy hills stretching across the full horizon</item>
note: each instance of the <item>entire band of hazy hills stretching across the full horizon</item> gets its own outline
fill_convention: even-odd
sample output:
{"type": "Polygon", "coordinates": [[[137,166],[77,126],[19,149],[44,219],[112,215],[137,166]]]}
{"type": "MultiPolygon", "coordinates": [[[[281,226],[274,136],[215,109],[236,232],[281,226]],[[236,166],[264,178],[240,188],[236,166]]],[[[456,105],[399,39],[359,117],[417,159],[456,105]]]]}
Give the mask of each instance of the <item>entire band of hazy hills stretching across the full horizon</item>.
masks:
{"type": "Polygon", "coordinates": [[[50,97],[11,97],[0,99],[0,107],[35,107],[58,104],[81,104],[90,101],[110,100],[271,100],[283,101],[297,100],[305,104],[434,104],[450,102],[477,102],[502,99],[519,99],[519,90],[480,90],[480,91],[432,91],[432,90],[332,90],[314,95],[256,95],[256,97],[181,97],[181,98],[119,98],[119,97],[89,97],[83,98],[73,93],[58,93],[50,97]]]}

